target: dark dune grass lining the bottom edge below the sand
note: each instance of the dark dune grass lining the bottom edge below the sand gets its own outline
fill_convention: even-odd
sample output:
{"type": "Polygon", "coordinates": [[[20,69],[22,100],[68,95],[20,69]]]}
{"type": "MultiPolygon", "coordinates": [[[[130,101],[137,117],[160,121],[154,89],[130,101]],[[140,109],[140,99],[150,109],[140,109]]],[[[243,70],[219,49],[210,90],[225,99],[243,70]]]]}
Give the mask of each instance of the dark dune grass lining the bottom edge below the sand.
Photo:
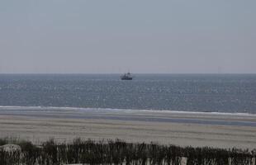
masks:
{"type": "Polygon", "coordinates": [[[175,145],[127,143],[120,139],[93,141],[74,139],[56,143],[50,139],[40,145],[24,140],[0,139],[0,145],[17,144],[21,150],[6,151],[0,147],[1,165],[59,164],[168,164],[180,165],[255,165],[256,150],[238,148],[192,148],[175,145]]]}

